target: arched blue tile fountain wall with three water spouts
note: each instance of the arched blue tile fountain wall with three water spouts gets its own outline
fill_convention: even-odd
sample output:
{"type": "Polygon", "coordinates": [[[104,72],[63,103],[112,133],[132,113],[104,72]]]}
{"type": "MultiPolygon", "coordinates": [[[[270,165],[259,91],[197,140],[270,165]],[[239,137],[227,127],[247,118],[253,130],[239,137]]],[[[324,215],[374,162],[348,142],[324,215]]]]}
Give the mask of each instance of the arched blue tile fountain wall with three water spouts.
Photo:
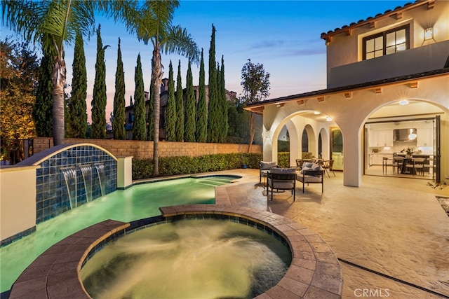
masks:
{"type": "Polygon", "coordinates": [[[72,168],[76,171],[76,205],[87,202],[81,166],[92,167],[92,200],[102,195],[100,181],[95,165],[104,165],[105,194],[117,188],[117,162],[106,151],[94,146],[80,145],[67,148],[39,163],[36,169],[36,224],[71,209],[69,192],[65,183],[63,169],[72,168]]]}

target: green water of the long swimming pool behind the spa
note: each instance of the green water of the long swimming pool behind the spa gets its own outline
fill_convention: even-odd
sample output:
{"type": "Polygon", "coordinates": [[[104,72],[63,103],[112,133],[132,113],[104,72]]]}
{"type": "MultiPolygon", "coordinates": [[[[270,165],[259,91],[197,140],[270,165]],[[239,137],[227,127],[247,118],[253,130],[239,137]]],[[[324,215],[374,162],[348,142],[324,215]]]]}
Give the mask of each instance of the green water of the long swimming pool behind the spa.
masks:
{"type": "Polygon", "coordinates": [[[213,204],[215,186],[230,183],[236,176],[205,176],[142,183],[99,197],[76,209],[36,225],[36,232],[0,248],[0,293],[43,251],[90,225],[113,219],[129,222],[160,215],[159,207],[178,204],[213,204]]]}

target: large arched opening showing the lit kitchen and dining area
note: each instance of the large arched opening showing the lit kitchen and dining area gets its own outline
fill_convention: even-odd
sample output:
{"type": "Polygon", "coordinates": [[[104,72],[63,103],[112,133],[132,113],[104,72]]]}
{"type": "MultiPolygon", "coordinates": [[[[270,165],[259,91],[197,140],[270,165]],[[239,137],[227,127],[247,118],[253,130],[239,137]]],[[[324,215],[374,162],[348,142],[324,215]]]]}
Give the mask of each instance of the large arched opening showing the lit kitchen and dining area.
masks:
{"type": "Polygon", "coordinates": [[[364,174],[433,180],[439,176],[437,143],[441,137],[437,127],[445,112],[423,100],[408,99],[406,103],[390,102],[366,121],[364,174]]]}

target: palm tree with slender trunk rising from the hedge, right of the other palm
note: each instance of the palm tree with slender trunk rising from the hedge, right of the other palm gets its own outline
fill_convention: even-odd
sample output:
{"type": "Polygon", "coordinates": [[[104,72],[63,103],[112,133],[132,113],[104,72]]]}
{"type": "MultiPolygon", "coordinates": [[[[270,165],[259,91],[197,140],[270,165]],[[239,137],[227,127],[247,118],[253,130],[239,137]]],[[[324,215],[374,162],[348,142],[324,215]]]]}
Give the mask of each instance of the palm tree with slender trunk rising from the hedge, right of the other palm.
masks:
{"type": "Polygon", "coordinates": [[[159,175],[159,118],[161,111],[161,81],[163,76],[161,53],[176,53],[199,62],[199,49],[196,43],[180,26],[172,26],[173,13],[179,1],[145,1],[135,13],[126,14],[128,31],[137,34],[145,45],[151,41],[153,46],[152,83],[154,88],[154,176],[159,175]]]}

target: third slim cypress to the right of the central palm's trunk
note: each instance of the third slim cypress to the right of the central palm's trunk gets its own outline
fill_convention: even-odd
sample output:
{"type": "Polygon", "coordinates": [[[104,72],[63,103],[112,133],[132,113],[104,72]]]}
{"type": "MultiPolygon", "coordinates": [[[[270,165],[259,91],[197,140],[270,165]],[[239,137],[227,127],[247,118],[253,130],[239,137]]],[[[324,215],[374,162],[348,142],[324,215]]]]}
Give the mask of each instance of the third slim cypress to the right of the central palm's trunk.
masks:
{"type": "Polygon", "coordinates": [[[189,60],[186,78],[184,141],[195,142],[195,93],[192,67],[189,60]]]}

